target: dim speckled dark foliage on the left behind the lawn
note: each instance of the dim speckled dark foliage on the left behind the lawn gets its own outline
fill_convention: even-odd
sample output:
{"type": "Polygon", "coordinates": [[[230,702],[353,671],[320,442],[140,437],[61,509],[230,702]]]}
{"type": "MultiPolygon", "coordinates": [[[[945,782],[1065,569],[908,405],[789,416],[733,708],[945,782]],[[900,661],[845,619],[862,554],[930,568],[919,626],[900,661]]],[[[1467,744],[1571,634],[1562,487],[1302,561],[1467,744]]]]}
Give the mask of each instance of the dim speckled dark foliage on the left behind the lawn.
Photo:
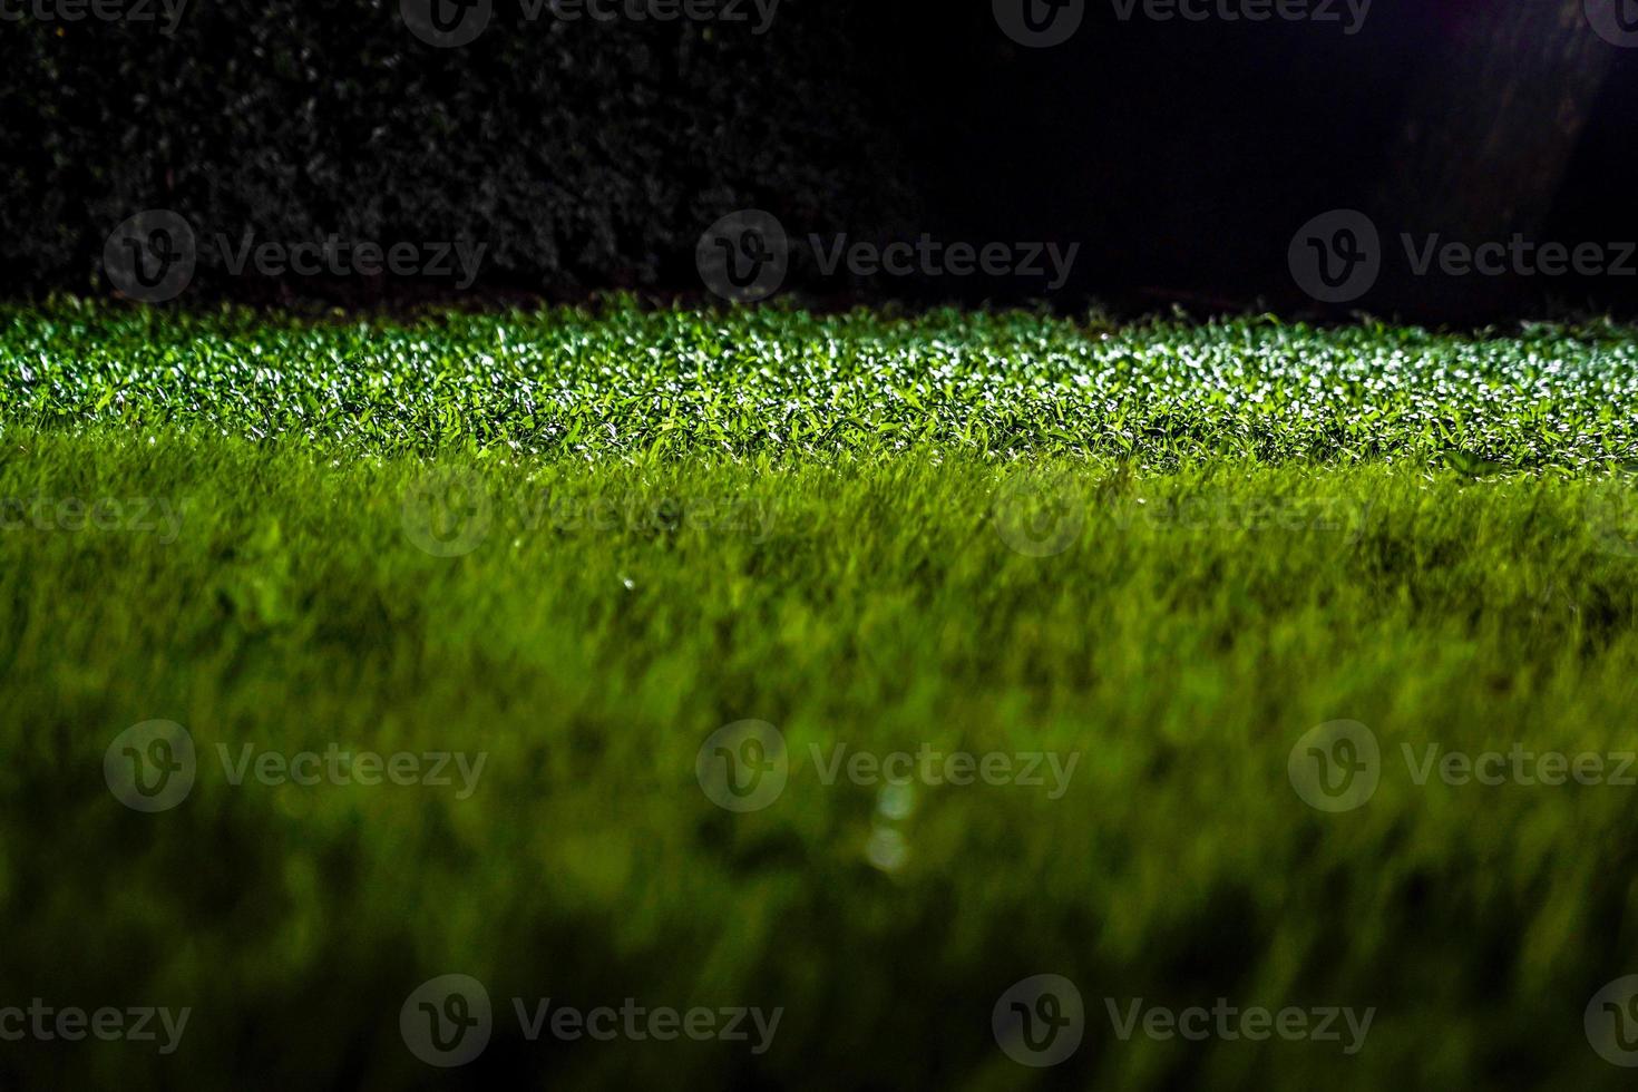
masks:
{"type": "MultiPolygon", "coordinates": [[[[447,49],[388,0],[195,0],[169,34],[157,2],[147,23],[7,23],[0,275],[100,290],[110,229],[169,208],[234,246],[482,241],[490,290],[681,283],[729,210],[858,223],[898,200],[862,147],[852,7],[786,0],[755,34],[753,11],[570,23],[496,0],[447,49]]],[[[197,283],[228,287],[223,265],[201,246],[197,283]]]]}

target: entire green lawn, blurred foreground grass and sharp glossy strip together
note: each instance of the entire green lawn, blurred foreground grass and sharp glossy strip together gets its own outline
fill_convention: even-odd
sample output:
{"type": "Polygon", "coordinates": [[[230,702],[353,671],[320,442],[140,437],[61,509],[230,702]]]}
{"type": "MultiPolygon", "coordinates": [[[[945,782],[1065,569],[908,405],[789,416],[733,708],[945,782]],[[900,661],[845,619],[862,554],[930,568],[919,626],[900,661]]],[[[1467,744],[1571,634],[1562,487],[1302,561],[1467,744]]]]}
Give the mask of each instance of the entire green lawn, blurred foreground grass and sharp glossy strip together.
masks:
{"type": "Polygon", "coordinates": [[[1623,1087],[1635,396],[1613,326],[0,311],[0,1005],[190,1009],[0,1084],[1623,1087]],[[1219,999],[1371,1023],[1127,1023],[1219,999]]]}

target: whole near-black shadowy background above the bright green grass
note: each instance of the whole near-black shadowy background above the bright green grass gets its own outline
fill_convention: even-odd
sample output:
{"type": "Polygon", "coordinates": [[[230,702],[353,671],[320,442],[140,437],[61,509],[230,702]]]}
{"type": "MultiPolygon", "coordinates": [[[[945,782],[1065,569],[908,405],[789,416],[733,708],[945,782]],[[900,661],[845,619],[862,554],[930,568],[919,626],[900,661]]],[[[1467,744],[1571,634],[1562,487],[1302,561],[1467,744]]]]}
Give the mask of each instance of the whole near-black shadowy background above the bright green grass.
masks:
{"type": "MultiPolygon", "coordinates": [[[[1053,305],[1173,303],[1417,318],[1638,311],[1638,278],[1404,283],[1330,311],[1292,232],[1332,208],[1399,231],[1638,239],[1638,49],[1582,0],[1376,0],[1317,23],[1155,23],[1088,0],[1025,49],[989,0],[785,0],[719,23],[524,23],[496,0],[470,46],[391,3],[195,0],[157,25],[0,25],[0,288],[108,295],[108,231],[170,208],[234,239],[490,246],[452,285],[229,277],[183,300],[393,303],[701,295],[695,244],[737,208],[793,236],[1078,241],[1053,305]]],[[[1392,264],[1392,262],[1391,262],[1392,264]]],[[[1030,278],[821,278],[816,303],[1043,296],[1030,278]]]]}

